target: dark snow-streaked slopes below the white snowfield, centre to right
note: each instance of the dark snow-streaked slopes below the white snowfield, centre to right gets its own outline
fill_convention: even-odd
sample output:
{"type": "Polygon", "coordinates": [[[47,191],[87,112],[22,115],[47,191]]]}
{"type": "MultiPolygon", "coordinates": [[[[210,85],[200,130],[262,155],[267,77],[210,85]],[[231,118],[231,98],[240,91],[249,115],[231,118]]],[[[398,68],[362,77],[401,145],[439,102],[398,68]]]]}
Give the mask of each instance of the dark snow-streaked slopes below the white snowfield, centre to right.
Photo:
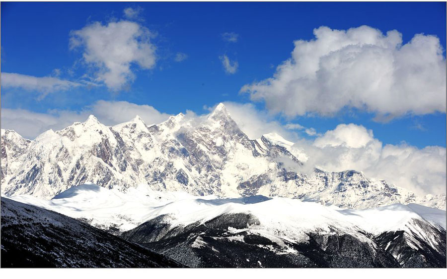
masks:
{"type": "Polygon", "coordinates": [[[417,220],[416,227],[430,231],[437,245],[427,243],[417,231],[373,236],[336,228],[329,234],[308,232],[307,241],[288,241],[252,229],[260,222],[244,213],[187,226],[171,226],[168,220],[157,217],[121,237],[199,268],[446,268],[446,231],[417,220]]]}

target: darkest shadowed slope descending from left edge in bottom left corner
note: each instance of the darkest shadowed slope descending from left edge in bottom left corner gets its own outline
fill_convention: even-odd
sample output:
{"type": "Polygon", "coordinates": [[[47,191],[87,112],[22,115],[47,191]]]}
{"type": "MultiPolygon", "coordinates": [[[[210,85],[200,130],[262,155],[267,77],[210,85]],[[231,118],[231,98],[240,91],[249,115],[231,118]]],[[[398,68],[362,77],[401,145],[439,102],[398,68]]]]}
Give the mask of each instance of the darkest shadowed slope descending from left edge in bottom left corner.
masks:
{"type": "Polygon", "coordinates": [[[183,267],[73,218],[1,198],[1,268],[183,267]]]}

